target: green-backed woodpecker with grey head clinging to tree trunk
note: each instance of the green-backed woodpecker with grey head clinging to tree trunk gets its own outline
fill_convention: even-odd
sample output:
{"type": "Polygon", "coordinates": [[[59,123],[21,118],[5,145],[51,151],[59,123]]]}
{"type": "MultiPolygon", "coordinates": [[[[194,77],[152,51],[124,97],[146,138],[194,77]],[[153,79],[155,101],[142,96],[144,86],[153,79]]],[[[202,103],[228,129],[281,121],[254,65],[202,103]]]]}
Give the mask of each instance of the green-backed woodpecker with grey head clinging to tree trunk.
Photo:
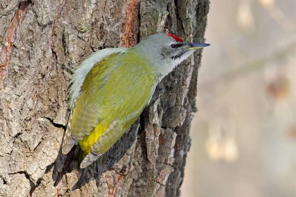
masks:
{"type": "Polygon", "coordinates": [[[78,142],[80,168],[93,163],[138,119],[161,79],[206,46],[156,33],[132,48],[107,48],[89,56],[71,79],[63,154],[78,142]]]}

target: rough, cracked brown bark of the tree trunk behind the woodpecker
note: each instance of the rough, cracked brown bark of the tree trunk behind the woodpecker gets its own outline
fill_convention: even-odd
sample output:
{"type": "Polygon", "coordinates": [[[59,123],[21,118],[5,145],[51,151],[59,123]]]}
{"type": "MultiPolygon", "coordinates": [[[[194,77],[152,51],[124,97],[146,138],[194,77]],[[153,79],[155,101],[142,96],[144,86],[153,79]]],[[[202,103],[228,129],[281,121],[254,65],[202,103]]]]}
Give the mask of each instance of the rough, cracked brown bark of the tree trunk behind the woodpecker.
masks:
{"type": "Polygon", "coordinates": [[[201,51],[157,87],[111,149],[99,187],[90,167],[75,189],[74,151],[60,153],[67,89],[94,51],[156,32],[204,41],[208,10],[209,0],[1,0],[0,196],[180,196],[201,51]]]}

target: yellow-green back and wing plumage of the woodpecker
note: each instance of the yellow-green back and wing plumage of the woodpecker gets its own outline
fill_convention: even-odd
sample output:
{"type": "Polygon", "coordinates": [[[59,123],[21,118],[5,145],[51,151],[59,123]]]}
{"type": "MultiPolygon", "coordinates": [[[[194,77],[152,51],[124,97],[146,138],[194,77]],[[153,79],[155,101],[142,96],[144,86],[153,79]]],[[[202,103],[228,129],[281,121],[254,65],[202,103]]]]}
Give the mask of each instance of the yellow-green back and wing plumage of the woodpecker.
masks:
{"type": "Polygon", "coordinates": [[[71,120],[83,157],[107,152],[140,116],[156,85],[148,63],[136,53],[112,54],[87,74],[71,120]]]}

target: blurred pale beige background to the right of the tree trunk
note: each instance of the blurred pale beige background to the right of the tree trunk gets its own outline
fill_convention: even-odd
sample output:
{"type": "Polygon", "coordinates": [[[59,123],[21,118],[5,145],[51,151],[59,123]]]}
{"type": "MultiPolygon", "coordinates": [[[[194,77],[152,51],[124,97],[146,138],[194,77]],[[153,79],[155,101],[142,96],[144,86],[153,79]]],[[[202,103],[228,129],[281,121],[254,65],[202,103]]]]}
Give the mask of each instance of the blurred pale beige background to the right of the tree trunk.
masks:
{"type": "Polygon", "coordinates": [[[211,0],[183,197],[296,197],[296,0],[211,0]]]}

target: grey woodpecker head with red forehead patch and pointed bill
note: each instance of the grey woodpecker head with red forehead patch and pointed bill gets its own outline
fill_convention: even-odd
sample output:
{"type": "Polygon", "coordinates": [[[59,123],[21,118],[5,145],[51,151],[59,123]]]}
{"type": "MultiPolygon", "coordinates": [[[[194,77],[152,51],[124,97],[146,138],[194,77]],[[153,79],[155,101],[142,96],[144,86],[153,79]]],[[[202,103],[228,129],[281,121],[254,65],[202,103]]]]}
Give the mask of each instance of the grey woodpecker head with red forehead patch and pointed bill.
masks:
{"type": "Polygon", "coordinates": [[[141,40],[131,50],[151,61],[160,81],[196,49],[209,46],[206,43],[189,43],[170,33],[156,33],[141,40]]]}

